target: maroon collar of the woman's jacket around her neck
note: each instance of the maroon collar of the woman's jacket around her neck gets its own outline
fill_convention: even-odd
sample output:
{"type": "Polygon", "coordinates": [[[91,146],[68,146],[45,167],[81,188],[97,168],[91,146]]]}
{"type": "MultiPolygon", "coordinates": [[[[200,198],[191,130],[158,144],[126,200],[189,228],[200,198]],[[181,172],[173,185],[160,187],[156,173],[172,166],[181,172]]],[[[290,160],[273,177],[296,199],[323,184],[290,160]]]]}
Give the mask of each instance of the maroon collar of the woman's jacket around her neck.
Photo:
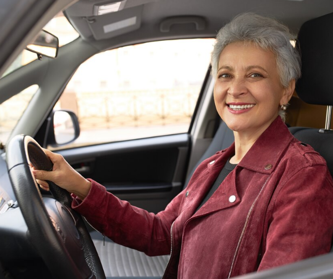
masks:
{"type": "MultiPolygon", "coordinates": [[[[278,116],[259,136],[237,167],[246,168],[263,174],[271,174],[278,164],[284,150],[293,139],[288,127],[278,116]]],[[[235,154],[235,143],[222,151],[222,156],[214,164],[207,164],[208,170],[221,167],[235,154]]]]}

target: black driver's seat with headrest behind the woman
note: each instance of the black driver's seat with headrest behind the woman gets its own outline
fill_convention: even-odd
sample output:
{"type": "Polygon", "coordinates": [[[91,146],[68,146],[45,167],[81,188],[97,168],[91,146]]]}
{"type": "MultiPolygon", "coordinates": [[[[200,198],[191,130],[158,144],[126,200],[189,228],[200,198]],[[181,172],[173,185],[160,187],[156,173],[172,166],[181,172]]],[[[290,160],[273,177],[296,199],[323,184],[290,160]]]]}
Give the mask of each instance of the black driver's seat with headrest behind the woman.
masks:
{"type": "Polygon", "coordinates": [[[296,48],[299,49],[302,59],[302,77],[296,84],[296,92],[306,103],[327,106],[325,128],[289,128],[298,140],[311,145],[325,158],[331,174],[333,174],[333,130],[331,130],[333,34],[327,30],[332,25],[333,13],[309,20],[302,25],[296,41],[296,48]]]}

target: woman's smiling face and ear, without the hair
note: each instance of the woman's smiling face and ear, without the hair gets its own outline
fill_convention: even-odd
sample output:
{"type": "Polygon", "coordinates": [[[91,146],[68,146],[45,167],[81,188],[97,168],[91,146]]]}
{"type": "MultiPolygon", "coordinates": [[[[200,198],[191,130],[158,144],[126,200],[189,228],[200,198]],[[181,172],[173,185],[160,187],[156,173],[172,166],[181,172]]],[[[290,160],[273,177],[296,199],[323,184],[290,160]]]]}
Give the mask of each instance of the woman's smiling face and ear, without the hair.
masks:
{"type": "Polygon", "coordinates": [[[271,51],[236,42],[220,55],[214,100],[217,111],[230,129],[261,134],[287,104],[295,87],[283,88],[271,51]]]}

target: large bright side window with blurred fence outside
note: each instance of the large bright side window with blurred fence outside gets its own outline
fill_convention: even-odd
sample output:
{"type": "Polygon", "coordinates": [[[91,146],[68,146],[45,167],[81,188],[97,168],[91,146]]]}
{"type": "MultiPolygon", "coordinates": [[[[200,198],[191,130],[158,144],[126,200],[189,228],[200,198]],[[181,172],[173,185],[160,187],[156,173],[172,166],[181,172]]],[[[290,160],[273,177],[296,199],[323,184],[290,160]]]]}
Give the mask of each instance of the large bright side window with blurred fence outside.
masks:
{"type": "Polygon", "coordinates": [[[55,106],[79,118],[81,134],[71,146],[187,132],[213,44],[150,42],[85,61],[55,106]]]}

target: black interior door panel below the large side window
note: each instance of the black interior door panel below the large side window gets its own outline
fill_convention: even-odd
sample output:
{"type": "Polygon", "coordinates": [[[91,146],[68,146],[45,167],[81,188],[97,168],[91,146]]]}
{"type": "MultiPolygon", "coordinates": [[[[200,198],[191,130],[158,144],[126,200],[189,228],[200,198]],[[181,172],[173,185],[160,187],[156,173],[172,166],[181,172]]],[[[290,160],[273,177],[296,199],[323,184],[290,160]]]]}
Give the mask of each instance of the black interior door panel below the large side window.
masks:
{"type": "Polygon", "coordinates": [[[178,134],[58,151],[85,178],[151,212],[163,210],[185,180],[189,135],[178,134]]]}

